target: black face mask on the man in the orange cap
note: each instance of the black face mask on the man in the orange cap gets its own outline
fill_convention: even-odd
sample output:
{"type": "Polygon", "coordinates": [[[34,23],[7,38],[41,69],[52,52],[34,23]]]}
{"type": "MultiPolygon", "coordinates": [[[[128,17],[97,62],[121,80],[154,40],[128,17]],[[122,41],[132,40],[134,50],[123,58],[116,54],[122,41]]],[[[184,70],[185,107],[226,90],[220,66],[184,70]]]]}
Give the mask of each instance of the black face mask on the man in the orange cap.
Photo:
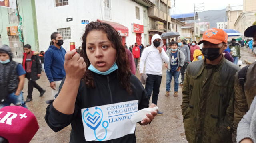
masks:
{"type": "Polygon", "coordinates": [[[202,53],[206,59],[213,61],[220,57],[220,48],[203,48],[202,53]]]}

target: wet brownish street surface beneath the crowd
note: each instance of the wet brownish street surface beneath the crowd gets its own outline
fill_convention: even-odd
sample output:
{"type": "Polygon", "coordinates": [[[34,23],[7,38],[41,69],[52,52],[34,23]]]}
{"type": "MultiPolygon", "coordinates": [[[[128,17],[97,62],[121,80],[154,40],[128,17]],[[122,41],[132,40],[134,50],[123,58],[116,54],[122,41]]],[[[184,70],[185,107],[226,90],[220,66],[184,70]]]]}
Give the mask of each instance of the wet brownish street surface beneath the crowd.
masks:
{"type": "MultiPolygon", "coordinates": [[[[244,59],[252,62],[256,58],[252,54],[242,51],[243,62],[244,59]]],[[[187,143],[186,137],[184,135],[183,118],[180,109],[180,105],[182,103],[182,88],[179,87],[178,97],[172,96],[174,92],[174,81],[172,80],[170,96],[164,96],[166,92],[165,67],[163,67],[162,72],[163,75],[162,83],[160,86],[160,94],[158,97],[158,107],[160,111],[164,112],[164,114],[161,116],[156,116],[150,125],[141,126],[137,124],[137,143],[187,143]]],[[[137,70],[136,76],[138,77],[138,75],[139,71],[137,70]]],[[[24,85],[24,100],[27,96],[27,83],[28,80],[26,80],[24,85]]],[[[44,94],[44,96],[39,97],[39,92],[34,89],[33,100],[26,103],[28,109],[36,115],[40,126],[40,129],[30,143],[68,143],[71,131],[70,125],[62,129],[62,131],[55,133],[50,129],[50,127],[48,127],[44,120],[47,106],[45,101],[53,98],[50,84],[44,72],[42,72],[42,76],[40,80],[37,80],[37,83],[44,89],[46,89],[46,93],[44,94]]]]}

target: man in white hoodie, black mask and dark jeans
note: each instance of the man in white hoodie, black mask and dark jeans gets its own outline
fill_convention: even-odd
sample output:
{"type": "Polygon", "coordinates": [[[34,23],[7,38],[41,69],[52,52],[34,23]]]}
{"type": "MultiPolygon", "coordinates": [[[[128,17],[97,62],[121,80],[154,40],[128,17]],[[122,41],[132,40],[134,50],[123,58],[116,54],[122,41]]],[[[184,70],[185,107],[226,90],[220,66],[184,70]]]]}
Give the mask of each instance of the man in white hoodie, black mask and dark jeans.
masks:
{"type": "MultiPolygon", "coordinates": [[[[144,71],[144,64],[146,62],[145,73],[148,78],[146,80],[146,94],[148,99],[151,97],[153,90],[152,103],[157,105],[159,88],[162,80],[162,66],[163,62],[168,63],[169,57],[166,55],[163,48],[163,40],[160,35],[155,34],[151,39],[151,45],[143,50],[140,58],[140,75],[144,71]]],[[[158,115],[163,112],[158,110],[158,115]]]]}

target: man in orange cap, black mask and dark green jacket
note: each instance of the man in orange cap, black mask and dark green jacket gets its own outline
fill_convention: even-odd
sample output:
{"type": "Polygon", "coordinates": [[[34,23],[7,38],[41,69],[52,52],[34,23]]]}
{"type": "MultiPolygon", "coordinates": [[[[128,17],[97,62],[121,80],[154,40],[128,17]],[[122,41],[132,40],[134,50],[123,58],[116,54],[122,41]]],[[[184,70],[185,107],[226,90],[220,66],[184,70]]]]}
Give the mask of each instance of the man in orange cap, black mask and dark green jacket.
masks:
{"type": "Polygon", "coordinates": [[[239,67],[222,55],[228,35],[204,32],[205,59],[188,65],[182,89],[182,114],[189,143],[232,143],[234,75],[239,67]]]}

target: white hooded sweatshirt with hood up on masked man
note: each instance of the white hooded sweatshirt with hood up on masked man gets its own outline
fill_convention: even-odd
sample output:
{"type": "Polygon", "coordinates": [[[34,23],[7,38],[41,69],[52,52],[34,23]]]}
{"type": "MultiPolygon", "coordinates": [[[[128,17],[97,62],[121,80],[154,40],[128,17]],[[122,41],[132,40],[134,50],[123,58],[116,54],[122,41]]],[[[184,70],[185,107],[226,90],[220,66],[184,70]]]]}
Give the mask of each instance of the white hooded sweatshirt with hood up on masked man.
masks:
{"type": "Polygon", "coordinates": [[[151,45],[143,49],[143,52],[140,58],[140,73],[143,73],[144,64],[146,61],[146,68],[145,68],[146,74],[162,75],[163,62],[166,62],[166,63],[169,62],[169,57],[165,53],[164,49],[162,48],[162,52],[159,53],[159,50],[156,49],[157,47],[154,46],[153,41],[155,39],[161,39],[161,43],[159,47],[162,47],[163,45],[163,40],[160,37],[160,35],[155,34],[151,39],[151,45]]]}

